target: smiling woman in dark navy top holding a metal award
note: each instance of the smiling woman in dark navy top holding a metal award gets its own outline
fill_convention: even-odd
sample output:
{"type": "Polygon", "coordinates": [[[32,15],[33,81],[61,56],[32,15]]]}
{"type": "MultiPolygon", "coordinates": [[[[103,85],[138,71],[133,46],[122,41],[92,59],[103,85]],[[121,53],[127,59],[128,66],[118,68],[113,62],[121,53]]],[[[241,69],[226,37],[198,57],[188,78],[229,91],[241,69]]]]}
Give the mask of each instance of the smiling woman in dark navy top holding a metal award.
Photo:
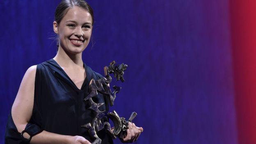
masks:
{"type": "MultiPolygon", "coordinates": [[[[83,99],[89,94],[89,81],[102,76],[86,66],[82,52],[87,47],[94,17],[83,0],[63,0],[55,11],[53,30],[58,35],[57,55],[31,66],[25,73],[9,115],[7,144],[91,144],[81,126],[91,122],[93,112],[83,99]]],[[[98,95],[97,103],[105,101],[98,95]]],[[[101,110],[107,110],[102,105],[101,110]]],[[[134,142],[142,128],[129,123],[122,142],[134,142]]],[[[99,131],[102,144],[112,144],[105,129],[99,131]]]]}

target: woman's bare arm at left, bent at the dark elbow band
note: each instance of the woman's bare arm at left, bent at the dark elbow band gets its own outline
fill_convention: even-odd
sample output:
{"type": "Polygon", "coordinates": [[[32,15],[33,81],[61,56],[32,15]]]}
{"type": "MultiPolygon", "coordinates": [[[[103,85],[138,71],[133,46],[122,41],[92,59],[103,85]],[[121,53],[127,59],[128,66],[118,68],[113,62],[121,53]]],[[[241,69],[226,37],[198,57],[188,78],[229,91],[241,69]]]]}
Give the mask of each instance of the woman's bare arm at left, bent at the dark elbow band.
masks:
{"type": "MultiPolygon", "coordinates": [[[[31,66],[27,69],[21,82],[18,94],[15,98],[11,109],[11,116],[19,133],[21,133],[32,117],[34,106],[34,82],[36,77],[37,66],[31,66]]],[[[25,138],[30,136],[27,133],[25,138]]],[[[84,137],[59,135],[42,131],[32,137],[31,144],[91,144],[84,137]]]]}

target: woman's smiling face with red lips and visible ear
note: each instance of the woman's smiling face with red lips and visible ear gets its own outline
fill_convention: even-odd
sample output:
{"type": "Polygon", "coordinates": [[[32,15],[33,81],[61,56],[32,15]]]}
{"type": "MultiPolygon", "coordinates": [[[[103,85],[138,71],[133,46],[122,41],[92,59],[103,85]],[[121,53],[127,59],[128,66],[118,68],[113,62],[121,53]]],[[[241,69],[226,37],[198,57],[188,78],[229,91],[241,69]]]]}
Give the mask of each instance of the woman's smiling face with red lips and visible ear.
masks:
{"type": "Polygon", "coordinates": [[[90,41],[92,18],[85,9],[72,7],[59,25],[53,22],[53,28],[59,35],[59,48],[66,53],[82,53],[90,41]]]}

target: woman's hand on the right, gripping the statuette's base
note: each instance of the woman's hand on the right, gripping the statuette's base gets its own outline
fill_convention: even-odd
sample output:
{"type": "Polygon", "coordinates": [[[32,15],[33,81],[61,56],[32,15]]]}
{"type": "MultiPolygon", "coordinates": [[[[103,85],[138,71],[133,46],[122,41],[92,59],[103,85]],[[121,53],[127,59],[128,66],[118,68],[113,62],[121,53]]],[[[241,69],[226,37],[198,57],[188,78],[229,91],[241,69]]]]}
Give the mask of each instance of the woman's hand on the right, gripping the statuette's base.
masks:
{"type": "Polygon", "coordinates": [[[142,127],[137,127],[134,123],[129,122],[126,137],[120,139],[123,143],[132,143],[138,140],[141,132],[143,132],[142,127]]]}

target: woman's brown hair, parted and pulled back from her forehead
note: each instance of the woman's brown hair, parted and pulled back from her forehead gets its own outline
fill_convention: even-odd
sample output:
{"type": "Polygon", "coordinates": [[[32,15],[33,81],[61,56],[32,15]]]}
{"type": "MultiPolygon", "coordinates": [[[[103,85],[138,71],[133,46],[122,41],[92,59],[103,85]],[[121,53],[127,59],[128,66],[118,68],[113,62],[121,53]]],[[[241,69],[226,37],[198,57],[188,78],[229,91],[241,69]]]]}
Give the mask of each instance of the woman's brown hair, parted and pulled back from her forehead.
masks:
{"type": "Polygon", "coordinates": [[[57,24],[60,23],[62,18],[65,16],[66,12],[70,8],[75,7],[75,6],[85,9],[86,11],[89,12],[89,14],[91,14],[92,25],[93,25],[93,23],[94,23],[93,10],[92,10],[91,6],[84,0],[62,0],[55,10],[55,21],[57,22],[57,24]]]}

